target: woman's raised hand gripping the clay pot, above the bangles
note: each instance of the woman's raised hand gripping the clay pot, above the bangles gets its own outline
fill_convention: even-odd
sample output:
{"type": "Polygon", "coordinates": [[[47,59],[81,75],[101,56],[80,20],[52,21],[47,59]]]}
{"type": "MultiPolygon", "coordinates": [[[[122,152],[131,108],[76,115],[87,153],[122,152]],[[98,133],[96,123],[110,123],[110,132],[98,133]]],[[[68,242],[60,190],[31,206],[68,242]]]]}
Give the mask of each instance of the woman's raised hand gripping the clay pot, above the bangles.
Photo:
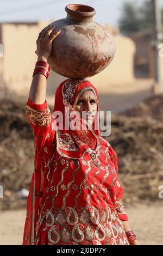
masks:
{"type": "Polygon", "coordinates": [[[48,57],[51,56],[52,42],[61,32],[59,29],[59,31],[54,33],[54,29],[55,25],[48,25],[39,33],[39,36],[36,40],[37,50],[35,51],[38,59],[45,58],[47,60],[48,57]]]}

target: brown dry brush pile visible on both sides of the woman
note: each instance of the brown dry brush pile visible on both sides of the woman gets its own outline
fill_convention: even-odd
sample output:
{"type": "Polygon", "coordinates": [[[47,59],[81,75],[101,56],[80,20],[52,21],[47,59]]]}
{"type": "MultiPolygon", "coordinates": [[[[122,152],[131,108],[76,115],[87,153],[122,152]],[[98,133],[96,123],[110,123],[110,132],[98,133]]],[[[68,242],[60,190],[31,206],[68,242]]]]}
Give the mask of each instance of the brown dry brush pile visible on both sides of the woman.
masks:
{"type": "MultiPolygon", "coordinates": [[[[24,208],[27,203],[35,154],[33,131],[25,115],[26,100],[0,100],[1,209],[24,208]]],[[[126,203],[159,199],[159,185],[163,185],[162,105],[163,97],[155,96],[111,117],[111,136],[105,139],[118,155],[126,203]]]]}

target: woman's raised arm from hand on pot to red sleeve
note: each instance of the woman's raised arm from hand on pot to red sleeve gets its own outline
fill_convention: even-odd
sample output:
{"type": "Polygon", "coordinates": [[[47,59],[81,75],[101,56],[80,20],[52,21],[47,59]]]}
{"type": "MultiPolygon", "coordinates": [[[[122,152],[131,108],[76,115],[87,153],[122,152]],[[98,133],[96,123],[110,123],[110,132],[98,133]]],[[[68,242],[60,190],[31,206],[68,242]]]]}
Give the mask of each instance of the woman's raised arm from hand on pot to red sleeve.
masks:
{"type": "MultiPolygon", "coordinates": [[[[52,41],[60,31],[54,33],[54,26],[48,26],[40,32],[37,43],[38,61],[47,62],[52,51],[52,41]]],[[[43,63],[46,64],[46,63],[43,63]]],[[[35,147],[41,149],[46,142],[53,141],[55,122],[46,101],[47,78],[41,73],[33,75],[28,101],[26,103],[26,117],[32,126],[35,147]]]]}

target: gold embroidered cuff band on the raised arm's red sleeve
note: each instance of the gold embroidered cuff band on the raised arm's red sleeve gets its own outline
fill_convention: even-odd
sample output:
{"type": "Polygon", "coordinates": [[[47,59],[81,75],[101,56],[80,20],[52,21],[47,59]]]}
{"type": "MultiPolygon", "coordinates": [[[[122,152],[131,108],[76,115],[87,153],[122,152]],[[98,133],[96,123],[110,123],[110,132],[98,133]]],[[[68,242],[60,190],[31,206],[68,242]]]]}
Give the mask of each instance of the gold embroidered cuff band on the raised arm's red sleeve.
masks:
{"type": "Polygon", "coordinates": [[[52,114],[49,107],[42,111],[36,111],[26,104],[26,117],[34,125],[49,126],[51,123],[52,114]]]}

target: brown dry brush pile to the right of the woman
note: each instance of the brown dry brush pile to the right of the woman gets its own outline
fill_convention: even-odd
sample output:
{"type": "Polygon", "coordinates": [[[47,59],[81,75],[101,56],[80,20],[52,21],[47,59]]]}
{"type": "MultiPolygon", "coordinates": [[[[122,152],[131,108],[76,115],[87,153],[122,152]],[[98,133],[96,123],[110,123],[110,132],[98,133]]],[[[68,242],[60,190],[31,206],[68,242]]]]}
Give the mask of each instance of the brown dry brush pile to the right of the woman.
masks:
{"type": "Polygon", "coordinates": [[[118,155],[118,173],[124,201],[159,199],[163,185],[163,96],[112,116],[111,135],[106,138],[118,155]]]}

